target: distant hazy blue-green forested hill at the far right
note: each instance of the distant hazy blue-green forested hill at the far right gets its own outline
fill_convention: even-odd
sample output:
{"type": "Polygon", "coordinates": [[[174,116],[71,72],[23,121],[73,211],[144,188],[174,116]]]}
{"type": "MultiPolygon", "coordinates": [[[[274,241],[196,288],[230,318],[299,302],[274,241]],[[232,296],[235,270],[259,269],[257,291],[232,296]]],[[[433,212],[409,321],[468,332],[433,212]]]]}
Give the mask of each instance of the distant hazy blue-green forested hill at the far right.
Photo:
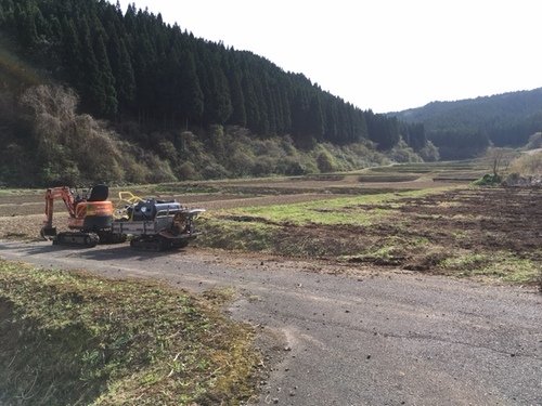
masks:
{"type": "Polygon", "coordinates": [[[457,102],[433,102],[390,117],[422,122],[442,159],[476,156],[490,144],[521,147],[542,131],[542,88],[457,102]]]}

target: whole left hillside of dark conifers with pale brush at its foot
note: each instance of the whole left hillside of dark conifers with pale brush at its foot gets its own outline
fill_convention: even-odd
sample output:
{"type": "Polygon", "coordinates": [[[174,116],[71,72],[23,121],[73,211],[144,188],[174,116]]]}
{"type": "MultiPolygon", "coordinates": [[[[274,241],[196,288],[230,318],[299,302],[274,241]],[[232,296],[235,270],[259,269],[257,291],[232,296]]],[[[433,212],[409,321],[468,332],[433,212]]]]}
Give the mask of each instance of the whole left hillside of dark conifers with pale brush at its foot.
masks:
{"type": "Polygon", "coordinates": [[[487,129],[361,110],[136,4],[0,0],[0,185],[296,175],[490,144],[487,129]]]}

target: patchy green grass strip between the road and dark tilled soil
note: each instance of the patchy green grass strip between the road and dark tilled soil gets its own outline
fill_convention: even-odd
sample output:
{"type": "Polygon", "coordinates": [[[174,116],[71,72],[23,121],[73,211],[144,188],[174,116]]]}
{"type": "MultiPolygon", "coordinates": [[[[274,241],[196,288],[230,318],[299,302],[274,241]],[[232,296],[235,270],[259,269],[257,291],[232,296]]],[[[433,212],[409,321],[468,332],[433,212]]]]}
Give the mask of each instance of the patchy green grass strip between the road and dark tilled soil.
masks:
{"type": "MultiPolygon", "coordinates": [[[[423,199],[429,194],[455,188],[401,191],[214,211],[199,219],[204,237],[196,245],[241,252],[401,266],[456,277],[534,284],[542,289],[542,272],[534,257],[519,260],[507,252],[462,249],[460,247],[468,246],[473,238],[470,231],[461,227],[424,230],[424,220],[441,215],[404,214],[401,211],[403,198],[423,199]],[[326,233],[326,226],[330,233],[326,233]],[[380,230],[376,238],[370,237],[371,227],[380,230]],[[346,230],[345,235],[341,230],[346,230]],[[442,246],[439,237],[444,233],[449,233],[457,246],[442,246]],[[369,238],[364,238],[365,234],[369,238]]],[[[434,205],[460,205],[446,198],[438,201],[434,205]]],[[[476,220],[469,214],[455,214],[452,219],[476,220]]]]}

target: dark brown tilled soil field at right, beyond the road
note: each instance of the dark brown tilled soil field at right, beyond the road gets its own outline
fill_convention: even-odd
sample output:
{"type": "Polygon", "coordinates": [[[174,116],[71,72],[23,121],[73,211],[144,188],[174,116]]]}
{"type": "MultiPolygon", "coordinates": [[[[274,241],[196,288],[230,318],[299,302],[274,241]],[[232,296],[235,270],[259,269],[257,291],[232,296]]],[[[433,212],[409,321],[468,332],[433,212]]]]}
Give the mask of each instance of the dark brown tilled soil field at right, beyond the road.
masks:
{"type": "Polygon", "coordinates": [[[463,267],[479,266],[476,256],[490,261],[503,252],[538,263],[541,197],[540,189],[465,188],[363,205],[364,210],[378,211],[378,220],[369,226],[285,224],[278,244],[282,243],[287,254],[295,256],[291,249],[304,245],[304,251],[313,258],[343,258],[411,271],[436,272],[437,263],[457,256],[475,259],[463,267]]]}

